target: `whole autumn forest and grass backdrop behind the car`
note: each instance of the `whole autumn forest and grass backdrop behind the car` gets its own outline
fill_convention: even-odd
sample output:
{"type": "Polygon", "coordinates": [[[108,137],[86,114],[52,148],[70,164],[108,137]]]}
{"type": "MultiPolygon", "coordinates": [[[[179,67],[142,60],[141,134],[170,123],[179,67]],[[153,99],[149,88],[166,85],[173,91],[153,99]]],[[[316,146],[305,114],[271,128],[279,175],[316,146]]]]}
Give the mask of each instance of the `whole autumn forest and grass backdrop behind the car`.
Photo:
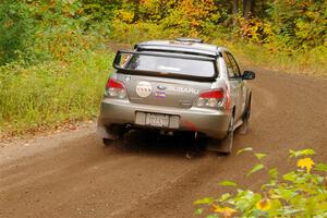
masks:
{"type": "MultiPolygon", "coordinates": [[[[326,0],[1,0],[0,138],[96,118],[114,49],[198,37],[327,77],[326,0]]],[[[325,78],[324,78],[325,77],[325,78]]]]}

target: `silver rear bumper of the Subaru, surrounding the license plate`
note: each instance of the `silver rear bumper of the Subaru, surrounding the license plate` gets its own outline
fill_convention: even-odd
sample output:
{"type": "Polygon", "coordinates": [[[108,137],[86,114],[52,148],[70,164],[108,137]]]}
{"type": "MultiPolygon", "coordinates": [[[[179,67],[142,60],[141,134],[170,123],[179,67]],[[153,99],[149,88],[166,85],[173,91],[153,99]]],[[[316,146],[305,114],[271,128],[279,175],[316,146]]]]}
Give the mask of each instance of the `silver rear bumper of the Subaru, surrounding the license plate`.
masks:
{"type": "MultiPolygon", "coordinates": [[[[179,117],[178,128],[167,128],[172,131],[194,131],[203,133],[209,137],[223,138],[227,134],[230,113],[220,110],[192,107],[169,108],[162,106],[149,106],[133,104],[129,100],[104,98],[100,107],[98,119],[98,132],[105,134],[105,126],[112,124],[131,124],[135,123],[136,112],[159,113],[179,117]]],[[[154,128],[146,126],[144,128],[154,128]]]]}

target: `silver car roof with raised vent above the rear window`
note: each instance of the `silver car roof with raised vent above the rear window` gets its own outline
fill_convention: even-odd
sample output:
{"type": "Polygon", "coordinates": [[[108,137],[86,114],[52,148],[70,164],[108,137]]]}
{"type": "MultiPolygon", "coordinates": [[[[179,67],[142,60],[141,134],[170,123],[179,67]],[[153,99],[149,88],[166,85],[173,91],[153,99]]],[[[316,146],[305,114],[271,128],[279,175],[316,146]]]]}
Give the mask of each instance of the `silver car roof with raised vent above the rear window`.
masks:
{"type": "Polygon", "coordinates": [[[196,53],[203,56],[217,57],[221,51],[227,50],[223,47],[204,44],[199,40],[190,38],[181,38],[181,40],[150,40],[137,44],[137,50],[155,50],[155,51],[180,51],[185,53],[196,53]]]}

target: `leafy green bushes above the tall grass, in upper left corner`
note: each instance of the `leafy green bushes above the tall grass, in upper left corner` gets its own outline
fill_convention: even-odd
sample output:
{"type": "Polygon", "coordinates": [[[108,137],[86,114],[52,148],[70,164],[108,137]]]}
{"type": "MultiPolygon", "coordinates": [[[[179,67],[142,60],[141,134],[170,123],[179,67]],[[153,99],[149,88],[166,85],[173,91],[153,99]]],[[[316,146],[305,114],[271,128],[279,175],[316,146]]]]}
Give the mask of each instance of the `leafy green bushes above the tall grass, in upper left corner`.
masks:
{"type": "Polygon", "coordinates": [[[32,58],[36,62],[65,60],[96,49],[110,33],[110,25],[104,25],[108,20],[95,24],[101,13],[94,10],[98,7],[81,0],[4,0],[0,3],[0,14],[4,14],[0,17],[0,65],[32,58]]]}

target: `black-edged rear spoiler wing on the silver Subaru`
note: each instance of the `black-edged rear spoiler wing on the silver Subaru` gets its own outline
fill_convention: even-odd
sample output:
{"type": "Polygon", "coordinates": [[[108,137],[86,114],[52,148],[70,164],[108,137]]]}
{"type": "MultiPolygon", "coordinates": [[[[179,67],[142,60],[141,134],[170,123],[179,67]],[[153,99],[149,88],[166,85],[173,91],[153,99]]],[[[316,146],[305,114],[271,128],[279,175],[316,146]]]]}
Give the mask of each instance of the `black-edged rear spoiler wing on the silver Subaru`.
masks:
{"type": "Polygon", "coordinates": [[[147,75],[147,76],[162,76],[162,77],[170,77],[170,78],[184,78],[190,81],[198,81],[198,82],[214,82],[218,76],[218,69],[216,64],[215,57],[206,57],[203,55],[185,55],[185,53],[177,53],[177,52],[169,52],[169,53],[159,53],[159,52],[149,52],[149,51],[129,51],[129,50],[119,50],[114,57],[112,66],[118,71],[118,73],[123,74],[133,74],[133,75],[147,75]],[[187,59],[187,60],[199,60],[199,61],[210,61],[215,68],[215,75],[208,76],[195,76],[195,75],[184,75],[178,73],[169,73],[169,72],[159,72],[159,71],[143,71],[143,70],[132,70],[125,69],[121,66],[121,57],[122,55],[141,55],[141,56],[155,56],[155,57],[167,57],[167,58],[179,58],[179,59],[187,59]]]}

